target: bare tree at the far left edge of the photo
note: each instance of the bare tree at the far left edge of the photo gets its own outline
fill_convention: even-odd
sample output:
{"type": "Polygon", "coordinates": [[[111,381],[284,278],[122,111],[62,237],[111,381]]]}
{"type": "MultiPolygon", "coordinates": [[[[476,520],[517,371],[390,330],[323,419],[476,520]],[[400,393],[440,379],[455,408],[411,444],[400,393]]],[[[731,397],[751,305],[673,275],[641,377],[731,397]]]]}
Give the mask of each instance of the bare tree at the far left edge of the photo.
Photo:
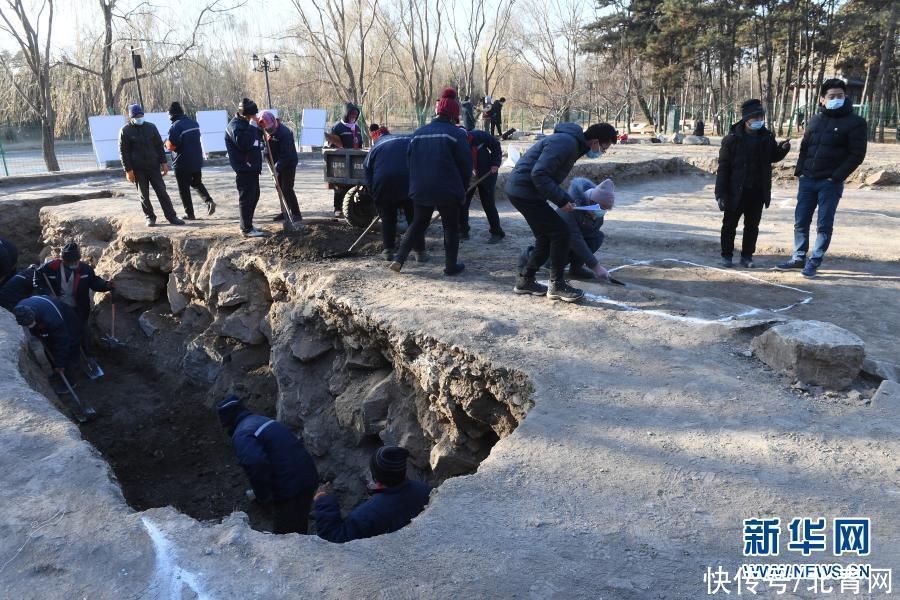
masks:
{"type": "Polygon", "coordinates": [[[9,63],[3,67],[18,96],[41,120],[41,152],[48,171],[59,171],[54,144],[56,113],[50,89],[50,40],[53,37],[53,0],[43,0],[37,13],[29,16],[22,0],[6,0],[0,5],[0,30],[10,35],[22,52],[25,65],[33,78],[33,89],[28,89],[13,75],[9,63]],[[45,13],[46,11],[46,13],[45,13]],[[46,23],[46,33],[41,41],[41,22],[46,23]]]}

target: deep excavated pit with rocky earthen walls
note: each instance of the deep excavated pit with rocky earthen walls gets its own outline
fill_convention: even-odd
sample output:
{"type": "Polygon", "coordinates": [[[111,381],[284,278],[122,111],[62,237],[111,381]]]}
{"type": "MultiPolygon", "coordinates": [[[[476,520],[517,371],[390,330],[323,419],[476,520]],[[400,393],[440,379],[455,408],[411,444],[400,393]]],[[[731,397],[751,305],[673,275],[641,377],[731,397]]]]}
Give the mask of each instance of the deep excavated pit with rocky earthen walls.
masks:
{"type": "MultiPolygon", "coordinates": [[[[281,300],[269,310],[292,309],[289,299],[281,300]]],[[[228,392],[304,440],[320,479],[332,483],[345,511],[367,498],[368,460],[377,447],[407,447],[409,477],[436,487],[474,473],[532,404],[523,374],[428,338],[401,332],[398,343],[397,332],[357,321],[346,307],[332,307],[328,321],[307,316],[290,322],[289,331],[273,330],[266,341],[247,344],[211,334],[202,304],[173,315],[163,295],[118,305],[118,337],[125,345],[112,349],[99,339],[108,333],[109,309],[107,299],[94,310],[94,347],[105,375],[78,382],[77,392],[97,411],[80,427],[136,510],[171,505],[202,521],[243,511],[253,528],[270,530],[269,513],[245,495],[249,481],[213,408],[228,392]],[[153,324],[149,337],[139,317],[153,324]],[[205,380],[190,358],[192,340],[201,338],[221,357],[215,377],[205,380]],[[417,379],[422,364],[440,372],[439,385],[423,387],[417,379]],[[498,389],[516,396],[514,403],[497,397],[498,389]],[[437,445],[445,456],[435,461],[437,445]]],[[[236,312],[218,309],[220,316],[236,312]]]]}

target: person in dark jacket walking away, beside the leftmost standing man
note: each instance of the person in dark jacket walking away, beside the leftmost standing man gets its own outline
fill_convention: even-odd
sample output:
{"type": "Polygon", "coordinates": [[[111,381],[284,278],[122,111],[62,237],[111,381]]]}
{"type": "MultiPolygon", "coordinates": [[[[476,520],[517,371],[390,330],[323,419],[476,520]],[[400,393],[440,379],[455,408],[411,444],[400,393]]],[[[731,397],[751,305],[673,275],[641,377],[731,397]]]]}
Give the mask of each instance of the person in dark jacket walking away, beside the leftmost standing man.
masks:
{"type": "Polygon", "coordinates": [[[169,106],[169,138],[166,149],[172,153],[172,168],[178,183],[178,195],[184,206],[184,218],[194,219],[194,201],[191,188],[197,190],[206,203],[206,214],[216,212],[216,203],[203,185],[203,145],[200,143],[200,124],[184,114],[181,104],[173,102],[169,106]]]}

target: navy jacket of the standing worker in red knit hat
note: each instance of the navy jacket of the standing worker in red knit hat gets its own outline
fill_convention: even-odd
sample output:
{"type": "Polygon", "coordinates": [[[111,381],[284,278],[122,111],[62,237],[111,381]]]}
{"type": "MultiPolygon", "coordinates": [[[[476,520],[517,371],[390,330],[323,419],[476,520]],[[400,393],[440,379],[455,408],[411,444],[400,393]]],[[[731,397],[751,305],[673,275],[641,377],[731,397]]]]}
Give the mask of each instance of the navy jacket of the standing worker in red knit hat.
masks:
{"type": "Polygon", "coordinates": [[[407,153],[409,197],[421,206],[462,204],[472,178],[469,136],[448,119],[438,117],[419,127],[407,153]]]}

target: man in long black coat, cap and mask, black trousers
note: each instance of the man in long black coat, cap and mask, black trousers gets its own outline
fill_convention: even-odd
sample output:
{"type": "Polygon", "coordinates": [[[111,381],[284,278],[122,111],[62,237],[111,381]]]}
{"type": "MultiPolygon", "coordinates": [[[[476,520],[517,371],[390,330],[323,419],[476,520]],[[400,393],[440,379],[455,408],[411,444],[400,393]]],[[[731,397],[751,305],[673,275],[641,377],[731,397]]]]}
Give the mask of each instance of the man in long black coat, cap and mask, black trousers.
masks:
{"type": "Polygon", "coordinates": [[[776,142],[765,123],[762,102],[747,100],[741,105],[741,120],[731,126],[719,149],[716,202],[724,213],[720,237],[723,267],[734,266],[734,236],[741,217],[741,266],[753,267],[763,207],[768,208],[772,201],[772,163],[782,160],[791,149],[790,140],[776,142]]]}

